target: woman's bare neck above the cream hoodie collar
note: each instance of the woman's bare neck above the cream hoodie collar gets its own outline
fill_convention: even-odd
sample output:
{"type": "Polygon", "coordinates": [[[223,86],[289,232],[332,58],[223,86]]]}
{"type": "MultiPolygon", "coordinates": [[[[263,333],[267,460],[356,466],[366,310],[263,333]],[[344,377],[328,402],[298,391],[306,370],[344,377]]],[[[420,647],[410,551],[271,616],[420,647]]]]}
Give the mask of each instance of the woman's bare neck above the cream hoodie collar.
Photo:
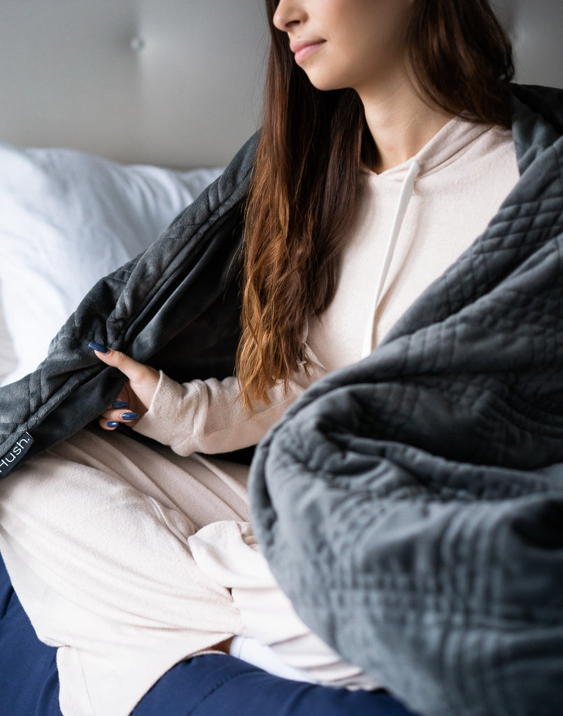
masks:
{"type": "Polygon", "coordinates": [[[379,153],[377,173],[420,152],[453,116],[426,105],[406,80],[387,92],[358,94],[379,153]]]}

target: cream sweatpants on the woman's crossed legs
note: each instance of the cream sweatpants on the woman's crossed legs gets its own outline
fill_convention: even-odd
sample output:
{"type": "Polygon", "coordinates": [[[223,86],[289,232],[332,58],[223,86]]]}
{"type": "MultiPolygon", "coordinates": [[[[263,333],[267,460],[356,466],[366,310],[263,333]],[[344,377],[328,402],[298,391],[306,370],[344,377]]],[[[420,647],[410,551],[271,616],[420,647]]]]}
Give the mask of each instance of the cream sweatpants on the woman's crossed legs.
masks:
{"type": "Polygon", "coordinates": [[[0,551],[64,716],[127,716],[181,659],[241,634],[312,680],[374,688],[305,627],[249,523],[248,468],[82,430],[0,480],[0,551]]]}

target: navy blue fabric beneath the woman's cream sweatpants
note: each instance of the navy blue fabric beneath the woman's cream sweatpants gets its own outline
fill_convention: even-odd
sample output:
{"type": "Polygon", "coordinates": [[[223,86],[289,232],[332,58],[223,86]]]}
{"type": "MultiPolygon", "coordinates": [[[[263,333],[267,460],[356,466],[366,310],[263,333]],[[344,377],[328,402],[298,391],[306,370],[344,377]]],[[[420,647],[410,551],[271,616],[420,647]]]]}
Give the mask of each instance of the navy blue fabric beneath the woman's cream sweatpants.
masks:
{"type": "MultiPolygon", "coordinates": [[[[35,636],[0,559],[0,716],[61,716],[56,649],[35,636]]],[[[382,692],[280,679],[226,654],[176,664],[133,716],[409,716],[382,692]]],[[[111,716],[111,715],[107,715],[111,716]]]]}

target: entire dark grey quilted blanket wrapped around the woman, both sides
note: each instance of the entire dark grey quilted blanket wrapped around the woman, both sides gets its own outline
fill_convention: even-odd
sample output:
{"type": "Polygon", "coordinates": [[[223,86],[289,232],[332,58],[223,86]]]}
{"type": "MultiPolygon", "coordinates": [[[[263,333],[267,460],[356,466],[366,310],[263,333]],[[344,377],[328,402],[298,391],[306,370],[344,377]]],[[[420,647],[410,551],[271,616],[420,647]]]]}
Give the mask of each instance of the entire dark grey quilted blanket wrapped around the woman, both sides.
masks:
{"type": "MultiPolygon", "coordinates": [[[[521,180],[499,213],[251,465],[299,614],[424,716],[563,714],[562,134],[563,92],[514,86],[521,180]]],[[[0,477],[115,400],[90,340],[181,382],[232,374],[257,136],[0,389],[0,477]]]]}

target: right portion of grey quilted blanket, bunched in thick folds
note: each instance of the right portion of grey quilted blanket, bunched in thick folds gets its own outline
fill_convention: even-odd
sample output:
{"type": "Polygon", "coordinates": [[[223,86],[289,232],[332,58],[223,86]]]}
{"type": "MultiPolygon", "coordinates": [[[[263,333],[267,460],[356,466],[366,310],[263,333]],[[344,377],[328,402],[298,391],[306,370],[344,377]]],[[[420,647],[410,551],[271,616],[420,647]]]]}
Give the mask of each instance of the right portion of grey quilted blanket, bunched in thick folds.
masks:
{"type": "Polygon", "coordinates": [[[254,523],[302,619],[427,716],[563,714],[563,93],[521,180],[372,354],[259,445],[254,523]]]}

